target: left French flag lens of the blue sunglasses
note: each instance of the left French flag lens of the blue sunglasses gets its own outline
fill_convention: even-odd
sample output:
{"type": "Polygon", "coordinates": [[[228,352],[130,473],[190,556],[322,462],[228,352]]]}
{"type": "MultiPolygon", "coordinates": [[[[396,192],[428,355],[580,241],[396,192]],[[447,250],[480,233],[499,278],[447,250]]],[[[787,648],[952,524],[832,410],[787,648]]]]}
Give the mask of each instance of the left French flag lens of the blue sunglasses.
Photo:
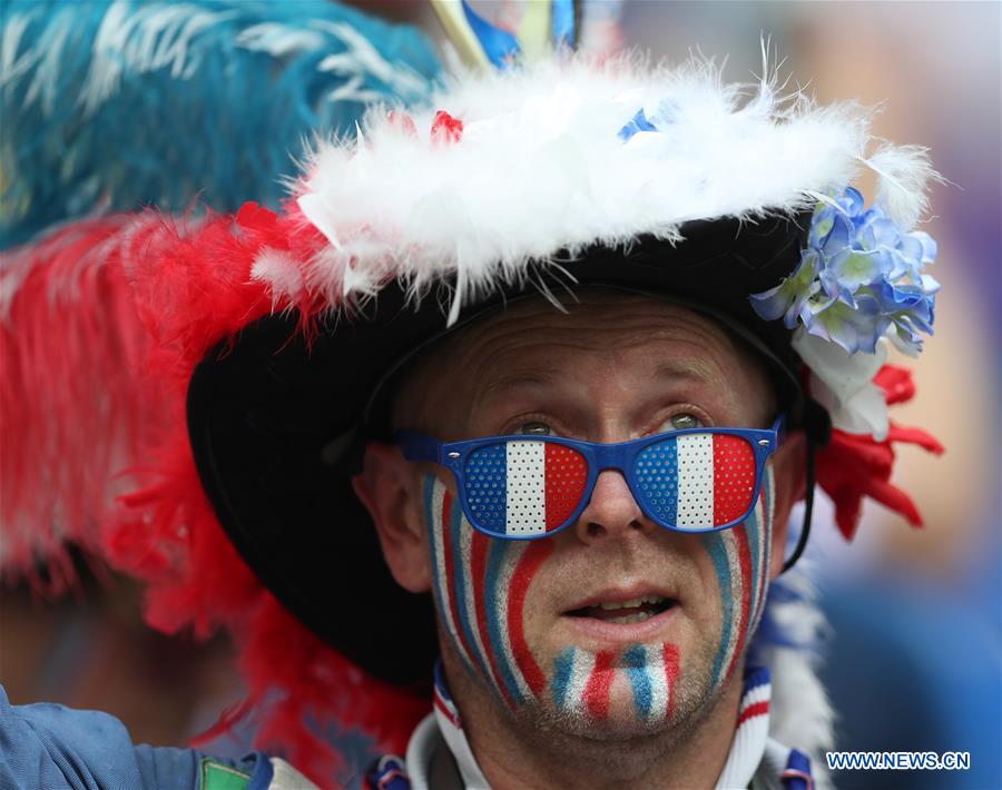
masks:
{"type": "Polygon", "coordinates": [[[474,450],[463,478],[475,526],[494,535],[542,535],[580,504],[588,462],[562,444],[515,440],[474,450]]]}

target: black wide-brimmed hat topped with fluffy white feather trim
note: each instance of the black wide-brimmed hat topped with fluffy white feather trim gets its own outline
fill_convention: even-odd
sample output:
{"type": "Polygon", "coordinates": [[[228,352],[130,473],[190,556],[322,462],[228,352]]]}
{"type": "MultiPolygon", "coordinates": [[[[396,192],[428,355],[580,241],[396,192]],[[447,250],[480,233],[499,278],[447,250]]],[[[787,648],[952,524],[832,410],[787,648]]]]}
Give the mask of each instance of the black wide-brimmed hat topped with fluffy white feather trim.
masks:
{"type": "MultiPolygon", "coordinates": [[[[784,103],[768,82],[741,95],[706,66],[469,77],[433,109],[321,147],[284,215],[247,209],[234,238],[191,251],[190,289],[229,283],[218,330],[198,318],[212,342],[188,388],[203,486],[261,581],[344,655],[406,682],[435,651],[430,603],[390,577],[350,478],[387,437],[394,375],[444,333],[538,293],[670,298],[762,353],[794,425],[811,415],[792,337],[825,309],[817,245],[834,231],[815,209],[851,213],[838,201],[866,116],[784,103]],[[364,605],[343,605],[360,590],[364,605]]],[[[896,161],[882,188],[913,198],[901,185],[927,164],[896,161]]],[[[841,345],[819,326],[811,343],[841,345]]]]}

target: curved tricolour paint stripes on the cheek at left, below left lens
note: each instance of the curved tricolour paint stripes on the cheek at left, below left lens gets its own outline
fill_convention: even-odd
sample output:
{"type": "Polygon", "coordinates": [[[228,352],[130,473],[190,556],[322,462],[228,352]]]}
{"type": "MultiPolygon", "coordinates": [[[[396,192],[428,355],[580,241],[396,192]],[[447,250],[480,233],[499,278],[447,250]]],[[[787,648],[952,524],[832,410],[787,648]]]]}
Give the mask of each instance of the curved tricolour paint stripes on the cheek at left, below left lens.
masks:
{"type": "Polygon", "coordinates": [[[425,475],[422,485],[433,594],[453,646],[510,708],[539,698],[547,681],[525,642],[525,595],[552,542],[490,539],[441,480],[425,475]]]}

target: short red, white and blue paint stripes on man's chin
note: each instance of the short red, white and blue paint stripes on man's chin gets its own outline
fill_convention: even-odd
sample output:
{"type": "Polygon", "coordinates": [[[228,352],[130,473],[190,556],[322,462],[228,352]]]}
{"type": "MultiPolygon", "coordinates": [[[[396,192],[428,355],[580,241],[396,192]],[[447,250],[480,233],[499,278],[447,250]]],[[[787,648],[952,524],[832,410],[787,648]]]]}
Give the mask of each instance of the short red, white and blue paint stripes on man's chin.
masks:
{"type": "Polygon", "coordinates": [[[671,715],[678,648],[670,642],[635,644],[622,651],[598,653],[568,648],[553,662],[553,707],[558,711],[605,719],[617,673],[629,681],[637,718],[660,721],[671,715]]]}

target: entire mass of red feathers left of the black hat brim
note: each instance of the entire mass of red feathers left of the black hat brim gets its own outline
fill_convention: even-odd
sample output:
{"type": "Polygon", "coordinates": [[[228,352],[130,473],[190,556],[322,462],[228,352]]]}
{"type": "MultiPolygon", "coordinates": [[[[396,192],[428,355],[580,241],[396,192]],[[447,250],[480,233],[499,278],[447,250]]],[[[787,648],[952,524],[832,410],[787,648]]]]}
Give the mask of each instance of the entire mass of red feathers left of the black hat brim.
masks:
{"type": "Polygon", "coordinates": [[[429,701],[369,677],[261,584],[205,496],[185,423],[212,347],[273,309],[299,309],[308,332],[321,309],[305,293],[273,303],[257,256],[305,267],[323,244],[295,214],[247,204],[177,226],[153,213],[85,220],[10,254],[0,516],[6,571],[30,575],[42,559],[65,585],[69,540],[146,583],[151,626],[227,630],[248,697],[199,742],[250,718],[255,747],[328,786],[343,762],[307,722],[402,752],[429,701]]]}

